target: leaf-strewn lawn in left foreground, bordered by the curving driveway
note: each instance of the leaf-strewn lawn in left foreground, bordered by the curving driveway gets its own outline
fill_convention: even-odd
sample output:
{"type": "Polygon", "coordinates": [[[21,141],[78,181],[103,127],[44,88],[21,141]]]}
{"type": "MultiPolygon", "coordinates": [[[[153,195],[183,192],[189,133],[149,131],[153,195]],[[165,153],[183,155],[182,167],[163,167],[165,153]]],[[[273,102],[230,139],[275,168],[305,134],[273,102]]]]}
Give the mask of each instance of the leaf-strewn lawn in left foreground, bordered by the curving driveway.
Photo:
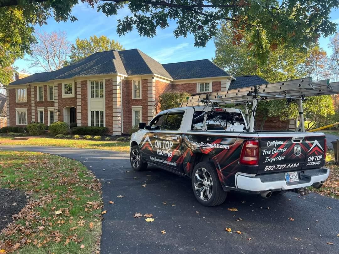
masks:
{"type": "Polygon", "coordinates": [[[101,184],[81,163],[36,152],[0,151],[0,188],[29,200],[0,233],[1,253],[95,253],[101,184]],[[5,251],[3,251],[5,250],[5,251]]]}

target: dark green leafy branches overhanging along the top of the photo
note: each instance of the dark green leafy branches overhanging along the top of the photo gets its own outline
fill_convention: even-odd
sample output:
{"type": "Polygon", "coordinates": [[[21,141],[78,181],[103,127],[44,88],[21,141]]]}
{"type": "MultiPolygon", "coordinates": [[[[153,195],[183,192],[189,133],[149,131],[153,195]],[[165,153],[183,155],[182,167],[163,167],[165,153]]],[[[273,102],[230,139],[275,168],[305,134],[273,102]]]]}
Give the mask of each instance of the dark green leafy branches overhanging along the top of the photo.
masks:
{"type": "MultiPolygon", "coordinates": [[[[125,35],[134,29],[140,36],[153,37],[157,28],[169,26],[176,20],[176,38],[193,34],[195,46],[205,46],[216,34],[221,24],[232,27],[235,42],[245,33],[253,34],[253,51],[261,59],[263,43],[271,47],[305,49],[320,36],[336,32],[336,24],[330,20],[337,0],[82,0],[107,16],[117,15],[126,5],[131,14],[118,19],[117,33],[125,35]],[[261,34],[266,34],[266,42],[261,34]]],[[[2,0],[0,7],[19,6],[27,15],[42,16],[46,20],[54,15],[57,21],[76,20],[71,10],[78,0],[2,0]]]]}

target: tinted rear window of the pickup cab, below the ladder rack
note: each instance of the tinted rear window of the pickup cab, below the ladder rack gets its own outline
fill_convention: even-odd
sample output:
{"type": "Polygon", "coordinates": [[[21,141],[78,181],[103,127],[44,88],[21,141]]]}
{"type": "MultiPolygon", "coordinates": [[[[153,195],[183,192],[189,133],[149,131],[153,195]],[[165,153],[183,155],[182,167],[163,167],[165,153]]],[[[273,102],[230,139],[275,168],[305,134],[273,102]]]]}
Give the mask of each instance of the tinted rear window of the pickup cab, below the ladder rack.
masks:
{"type": "MultiPolygon", "coordinates": [[[[193,114],[192,130],[202,130],[203,112],[197,111],[193,114]]],[[[206,119],[207,130],[225,130],[227,127],[244,125],[242,114],[239,112],[211,111],[206,119]]]]}

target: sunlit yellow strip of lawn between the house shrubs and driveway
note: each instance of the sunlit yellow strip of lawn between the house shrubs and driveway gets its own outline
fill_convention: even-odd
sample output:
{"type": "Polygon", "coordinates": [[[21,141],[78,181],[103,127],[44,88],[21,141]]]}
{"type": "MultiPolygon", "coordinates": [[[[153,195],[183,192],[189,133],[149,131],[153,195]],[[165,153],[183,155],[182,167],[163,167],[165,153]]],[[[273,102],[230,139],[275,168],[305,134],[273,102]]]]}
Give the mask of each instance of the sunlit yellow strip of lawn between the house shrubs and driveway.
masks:
{"type": "MultiPolygon", "coordinates": [[[[0,137],[1,141],[10,140],[10,137],[0,137]]],[[[11,140],[1,145],[23,145],[23,146],[65,146],[85,149],[101,149],[110,151],[129,152],[129,142],[119,141],[94,141],[94,140],[74,140],[74,139],[53,139],[39,137],[30,140],[11,140]]]]}

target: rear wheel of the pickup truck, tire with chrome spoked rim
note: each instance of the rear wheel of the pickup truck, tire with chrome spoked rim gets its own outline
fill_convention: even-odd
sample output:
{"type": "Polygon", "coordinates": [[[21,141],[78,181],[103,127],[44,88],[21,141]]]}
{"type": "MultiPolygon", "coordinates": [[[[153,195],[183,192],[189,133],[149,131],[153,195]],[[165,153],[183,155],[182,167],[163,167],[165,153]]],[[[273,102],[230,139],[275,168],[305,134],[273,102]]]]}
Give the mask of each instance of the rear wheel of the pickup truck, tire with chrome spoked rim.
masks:
{"type": "Polygon", "coordinates": [[[227,196],[227,192],[222,189],[213,162],[200,162],[194,167],[192,188],[195,198],[203,206],[218,206],[227,196]],[[201,190],[202,188],[204,189],[201,190]]]}

